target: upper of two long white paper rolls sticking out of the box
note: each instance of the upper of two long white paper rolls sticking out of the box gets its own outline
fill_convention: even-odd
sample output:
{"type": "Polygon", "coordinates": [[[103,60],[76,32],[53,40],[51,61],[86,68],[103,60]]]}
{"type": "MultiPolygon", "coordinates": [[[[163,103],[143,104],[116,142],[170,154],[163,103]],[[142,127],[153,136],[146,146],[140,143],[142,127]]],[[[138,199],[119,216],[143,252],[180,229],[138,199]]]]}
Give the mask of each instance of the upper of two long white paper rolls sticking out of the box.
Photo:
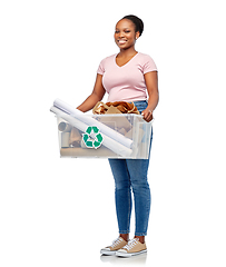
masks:
{"type": "MultiPolygon", "coordinates": [[[[109,128],[108,126],[97,121],[96,119],[85,115],[83,112],[81,112],[80,110],[73,108],[72,106],[63,102],[60,99],[56,99],[53,102],[53,107],[58,108],[59,110],[75,117],[77,120],[80,120],[81,122],[88,125],[88,126],[97,126],[101,134],[108,136],[109,138],[116,140],[117,142],[126,146],[127,148],[131,148],[132,147],[132,140],[129,138],[126,138],[125,136],[122,136],[121,134],[119,134],[118,131],[109,128]]],[[[121,115],[119,115],[121,117],[121,115]]],[[[120,119],[119,117],[119,119],[120,119]]]]}

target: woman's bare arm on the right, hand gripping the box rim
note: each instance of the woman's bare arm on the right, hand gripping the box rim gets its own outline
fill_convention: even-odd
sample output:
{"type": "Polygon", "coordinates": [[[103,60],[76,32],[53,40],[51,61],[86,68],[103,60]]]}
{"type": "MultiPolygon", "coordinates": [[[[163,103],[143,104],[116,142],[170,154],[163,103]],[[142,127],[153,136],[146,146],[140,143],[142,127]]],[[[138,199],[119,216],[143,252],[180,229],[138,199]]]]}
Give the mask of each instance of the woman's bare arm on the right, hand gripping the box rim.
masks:
{"type": "Polygon", "coordinates": [[[143,111],[144,119],[149,122],[153,119],[153,111],[158,105],[158,72],[151,71],[145,75],[145,82],[148,91],[148,107],[143,111]]]}

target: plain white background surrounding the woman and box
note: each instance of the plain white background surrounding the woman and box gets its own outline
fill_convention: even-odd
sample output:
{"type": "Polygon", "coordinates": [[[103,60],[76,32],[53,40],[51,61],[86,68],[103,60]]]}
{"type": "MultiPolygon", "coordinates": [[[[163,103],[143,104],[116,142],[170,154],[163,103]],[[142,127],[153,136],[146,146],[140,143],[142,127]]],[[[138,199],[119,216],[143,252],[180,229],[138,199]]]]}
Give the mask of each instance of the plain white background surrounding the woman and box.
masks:
{"type": "Polygon", "coordinates": [[[0,266],[226,265],[225,24],[220,0],[1,1],[0,266]],[[136,48],[158,67],[160,101],[149,253],[124,260],[99,255],[118,235],[108,161],[60,159],[49,109],[88,97],[129,13],[145,22],[136,48]]]}

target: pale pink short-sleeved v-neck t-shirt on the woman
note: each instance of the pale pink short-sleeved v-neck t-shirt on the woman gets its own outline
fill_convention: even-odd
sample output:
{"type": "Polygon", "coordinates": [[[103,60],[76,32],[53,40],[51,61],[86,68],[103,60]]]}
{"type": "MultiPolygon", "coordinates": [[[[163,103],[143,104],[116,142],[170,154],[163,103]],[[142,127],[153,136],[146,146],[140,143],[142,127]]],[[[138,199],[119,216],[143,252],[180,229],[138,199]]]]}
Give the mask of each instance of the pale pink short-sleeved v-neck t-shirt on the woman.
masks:
{"type": "Polygon", "coordinates": [[[139,101],[147,99],[147,88],[144,75],[157,71],[154,60],[138,52],[129,62],[119,67],[116,56],[105,58],[97,70],[102,76],[102,85],[109,93],[108,101],[139,101]]]}

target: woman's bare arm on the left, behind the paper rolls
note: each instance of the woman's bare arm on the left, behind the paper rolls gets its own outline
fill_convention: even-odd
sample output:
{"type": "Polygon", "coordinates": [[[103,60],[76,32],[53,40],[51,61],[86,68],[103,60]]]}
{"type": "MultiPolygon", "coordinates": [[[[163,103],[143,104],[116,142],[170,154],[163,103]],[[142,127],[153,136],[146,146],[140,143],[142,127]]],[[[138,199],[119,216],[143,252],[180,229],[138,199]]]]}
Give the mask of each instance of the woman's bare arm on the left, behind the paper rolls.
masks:
{"type": "Polygon", "coordinates": [[[106,90],[102,86],[102,76],[98,73],[92,93],[80,106],[78,106],[77,109],[82,112],[89,111],[104,98],[105,92],[106,90]]]}

